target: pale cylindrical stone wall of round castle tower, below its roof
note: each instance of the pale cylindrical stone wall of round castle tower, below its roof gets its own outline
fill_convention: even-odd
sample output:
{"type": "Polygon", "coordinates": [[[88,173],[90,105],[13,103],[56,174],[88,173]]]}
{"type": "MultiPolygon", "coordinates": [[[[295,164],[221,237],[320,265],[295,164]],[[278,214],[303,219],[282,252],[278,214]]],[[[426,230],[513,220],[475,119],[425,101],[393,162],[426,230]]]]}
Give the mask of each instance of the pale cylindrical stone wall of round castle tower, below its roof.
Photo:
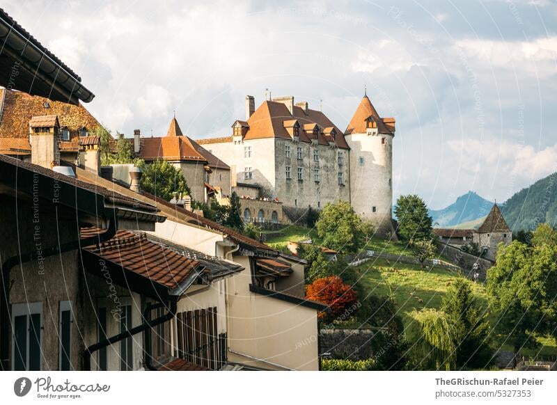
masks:
{"type": "Polygon", "coordinates": [[[375,223],[379,235],[386,235],[391,231],[393,206],[393,136],[351,134],[345,138],[350,145],[352,207],[375,223]]]}

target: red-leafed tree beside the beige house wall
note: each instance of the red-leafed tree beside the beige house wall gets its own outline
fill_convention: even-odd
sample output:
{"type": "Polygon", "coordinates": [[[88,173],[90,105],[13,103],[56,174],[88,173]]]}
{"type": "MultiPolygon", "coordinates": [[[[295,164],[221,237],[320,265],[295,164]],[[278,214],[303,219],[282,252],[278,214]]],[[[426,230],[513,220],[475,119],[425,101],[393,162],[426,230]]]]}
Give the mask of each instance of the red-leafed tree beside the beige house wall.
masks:
{"type": "MultiPolygon", "coordinates": [[[[314,301],[321,301],[329,306],[329,316],[336,317],[354,304],[358,296],[350,285],[344,284],[338,276],[317,278],[306,287],[306,297],[314,301]]],[[[325,317],[325,312],[320,312],[319,317],[325,317]]]]}

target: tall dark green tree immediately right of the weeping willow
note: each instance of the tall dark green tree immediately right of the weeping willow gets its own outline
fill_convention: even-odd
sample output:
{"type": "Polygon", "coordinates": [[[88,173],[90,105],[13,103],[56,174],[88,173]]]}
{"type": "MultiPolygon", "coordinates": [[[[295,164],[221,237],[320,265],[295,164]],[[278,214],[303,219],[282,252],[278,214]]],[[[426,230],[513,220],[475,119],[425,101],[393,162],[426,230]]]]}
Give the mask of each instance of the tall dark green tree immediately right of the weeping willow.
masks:
{"type": "Polygon", "coordinates": [[[453,317],[457,329],[456,365],[471,369],[489,365],[493,352],[489,336],[487,312],[478,304],[470,282],[459,278],[444,296],[441,310],[453,317]]]}

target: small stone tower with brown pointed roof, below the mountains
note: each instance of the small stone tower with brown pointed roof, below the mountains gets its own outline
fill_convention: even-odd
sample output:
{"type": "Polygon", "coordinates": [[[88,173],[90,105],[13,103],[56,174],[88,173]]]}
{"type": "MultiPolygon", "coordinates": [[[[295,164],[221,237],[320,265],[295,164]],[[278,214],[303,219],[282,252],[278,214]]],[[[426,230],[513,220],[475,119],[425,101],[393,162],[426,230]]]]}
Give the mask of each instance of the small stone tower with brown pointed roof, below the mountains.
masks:
{"type": "Polygon", "coordinates": [[[484,257],[488,260],[495,260],[497,246],[500,243],[509,245],[512,242],[512,231],[497,204],[493,205],[492,210],[473,234],[473,242],[485,250],[484,257]]]}

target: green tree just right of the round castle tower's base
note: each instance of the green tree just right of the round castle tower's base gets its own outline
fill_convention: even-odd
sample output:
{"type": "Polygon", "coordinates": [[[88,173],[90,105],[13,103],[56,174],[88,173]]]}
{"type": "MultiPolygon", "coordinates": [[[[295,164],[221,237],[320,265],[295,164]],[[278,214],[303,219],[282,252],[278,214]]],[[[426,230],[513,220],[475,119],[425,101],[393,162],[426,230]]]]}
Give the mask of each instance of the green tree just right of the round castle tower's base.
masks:
{"type": "Polygon", "coordinates": [[[432,218],[420,197],[400,196],[395,205],[395,216],[402,239],[412,242],[432,239],[432,218]]]}

